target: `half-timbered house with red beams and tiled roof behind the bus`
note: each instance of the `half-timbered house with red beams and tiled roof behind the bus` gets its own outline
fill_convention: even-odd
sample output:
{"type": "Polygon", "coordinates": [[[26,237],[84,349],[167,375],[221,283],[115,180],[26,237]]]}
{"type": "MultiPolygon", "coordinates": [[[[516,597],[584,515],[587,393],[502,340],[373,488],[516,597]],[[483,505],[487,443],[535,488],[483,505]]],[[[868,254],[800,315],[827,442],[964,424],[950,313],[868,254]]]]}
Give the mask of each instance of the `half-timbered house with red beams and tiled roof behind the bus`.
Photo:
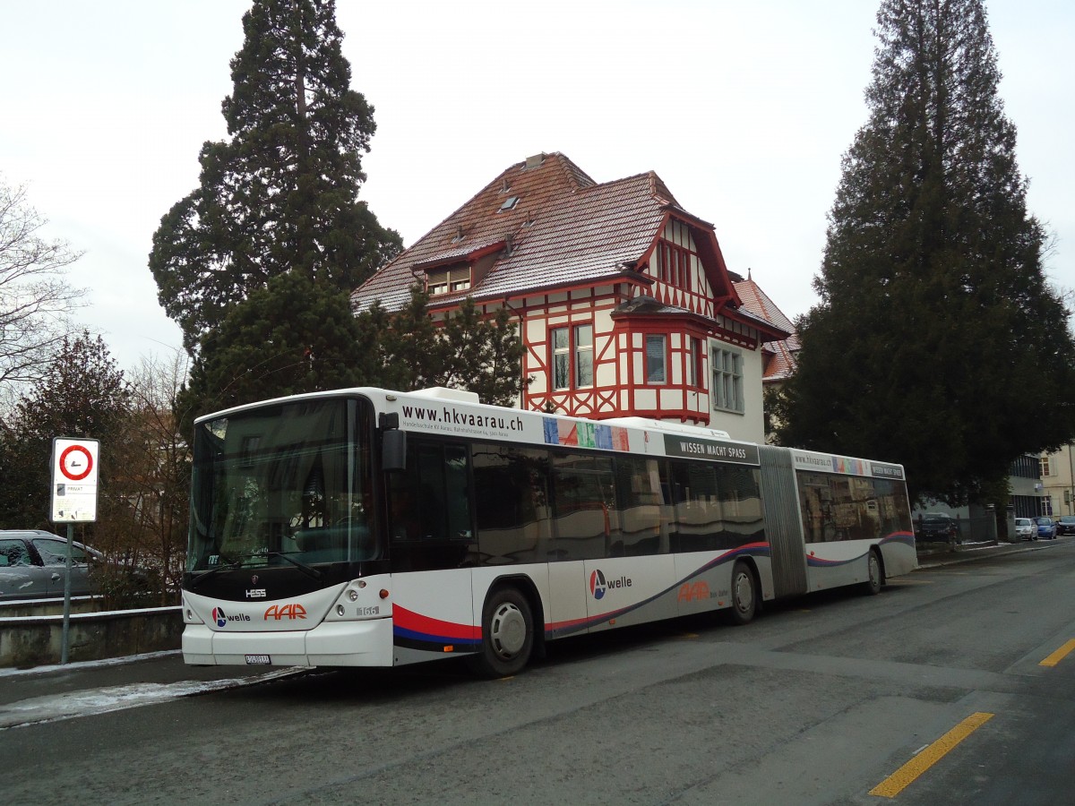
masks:
{"type": "Polygon", "coordinates": [[[353,294],[443,317],[506,306],[526,346],[519,405],[764,438],[766,342],[788,331],[736,292],[712,224],[654,172],[597,183],[562,154],[507,168],[353,294]]]}

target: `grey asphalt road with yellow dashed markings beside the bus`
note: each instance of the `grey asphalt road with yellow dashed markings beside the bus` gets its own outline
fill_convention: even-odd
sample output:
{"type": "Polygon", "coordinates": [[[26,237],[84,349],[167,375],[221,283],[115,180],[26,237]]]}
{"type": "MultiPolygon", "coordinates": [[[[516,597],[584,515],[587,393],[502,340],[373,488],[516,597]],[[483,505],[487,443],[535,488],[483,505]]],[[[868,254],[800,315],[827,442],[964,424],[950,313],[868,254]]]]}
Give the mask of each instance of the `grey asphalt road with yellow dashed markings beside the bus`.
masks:
{"type": "Polygon", "coordinates": [[[0,801],[1065,803],[1073,605],[1061,539],[745,628],[556,643],[503,680],[448,661],[236,687],[174,657],[0,677],[0,801]]]}

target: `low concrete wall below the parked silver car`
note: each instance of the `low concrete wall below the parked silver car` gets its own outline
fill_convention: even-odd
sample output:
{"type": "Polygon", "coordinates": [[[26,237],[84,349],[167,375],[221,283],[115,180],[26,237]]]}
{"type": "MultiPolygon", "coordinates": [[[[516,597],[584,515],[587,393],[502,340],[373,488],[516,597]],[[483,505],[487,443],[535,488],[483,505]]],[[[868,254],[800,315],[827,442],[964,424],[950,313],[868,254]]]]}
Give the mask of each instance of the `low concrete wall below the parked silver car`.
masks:
{"type": "MultiPolygon", "coordinates": [[[[181,607],[150,607],[111,613],[72,613],[68,660],[95,661],[140,652],[178,649],[183,636],[181,607]]],[[[59,663],[63,617],[9,616],[0,611],[0,666],[29,667],[59,663]]]]}

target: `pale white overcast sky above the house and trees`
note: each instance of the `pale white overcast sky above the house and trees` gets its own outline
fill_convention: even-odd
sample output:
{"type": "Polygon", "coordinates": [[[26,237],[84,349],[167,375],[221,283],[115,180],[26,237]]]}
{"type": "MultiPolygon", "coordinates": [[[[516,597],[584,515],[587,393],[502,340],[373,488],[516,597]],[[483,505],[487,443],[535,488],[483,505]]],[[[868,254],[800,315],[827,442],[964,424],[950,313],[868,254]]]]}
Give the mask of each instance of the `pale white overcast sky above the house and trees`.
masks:
{"type": "MultiPolygon", "coordinates": [[[[38,0],[0,12],[0,174],[86,255],[80,319],[124,369],[178,328],[147,268],[160,217],[226,133],[249,0],[38,0]]],[[[656,171],[728,267],[790,317],[816,301],[841,156],[866,119],[875,0],[338,0],[377,133],[360,198],[405,245],[510,164],[561,152],[597,182],[656,171]]],[[[1075,286],[1075,3],[989,0],[1046,268],[1075,286]]]]}

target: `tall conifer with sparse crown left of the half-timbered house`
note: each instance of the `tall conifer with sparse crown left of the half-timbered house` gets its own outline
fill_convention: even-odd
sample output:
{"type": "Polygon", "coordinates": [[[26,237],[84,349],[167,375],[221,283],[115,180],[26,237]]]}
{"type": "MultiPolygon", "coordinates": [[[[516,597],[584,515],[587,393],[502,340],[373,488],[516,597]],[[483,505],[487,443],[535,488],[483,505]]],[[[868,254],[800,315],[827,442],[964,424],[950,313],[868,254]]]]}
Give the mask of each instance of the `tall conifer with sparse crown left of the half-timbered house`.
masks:
{"type": "Polygon", "coordinates": [[[163,216],[149,255],[191,355],[271,278],[298,272],[349,292],[400,248],[357,198],[376,127],[350,88],[334,0],[256,0],[243,30],[229,139],[202,146],[200,185],[163,216]]]}

